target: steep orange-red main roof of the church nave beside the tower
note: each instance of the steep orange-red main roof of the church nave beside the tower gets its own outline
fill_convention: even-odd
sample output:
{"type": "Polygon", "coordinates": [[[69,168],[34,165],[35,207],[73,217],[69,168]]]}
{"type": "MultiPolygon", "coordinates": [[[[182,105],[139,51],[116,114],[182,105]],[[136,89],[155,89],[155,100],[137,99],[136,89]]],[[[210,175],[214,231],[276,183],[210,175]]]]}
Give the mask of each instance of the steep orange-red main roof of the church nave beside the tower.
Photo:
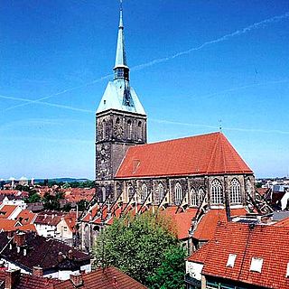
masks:
{"type": "Polygon", "coordinates": [[[253,173],[222,133],[196,135],[128,149],[117,178],[253,173]]]}

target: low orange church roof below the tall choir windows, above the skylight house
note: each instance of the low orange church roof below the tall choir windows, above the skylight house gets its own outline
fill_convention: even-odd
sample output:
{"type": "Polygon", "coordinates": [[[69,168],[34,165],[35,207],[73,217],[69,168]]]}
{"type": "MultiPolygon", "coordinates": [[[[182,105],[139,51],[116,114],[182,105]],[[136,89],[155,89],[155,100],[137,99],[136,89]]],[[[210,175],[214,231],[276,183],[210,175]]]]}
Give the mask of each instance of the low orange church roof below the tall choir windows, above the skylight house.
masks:
{"type": "MultiPolygon", "coordinates": [[[[245,216],[247,210],[245,208],[230,210],[231,217],[245,216]]],[[[211,209],[200,219],[196,230],[192,237],[199,240],[208,241],[214,237],[219,222],[227,222],[225,209],[211,209]]]]}

